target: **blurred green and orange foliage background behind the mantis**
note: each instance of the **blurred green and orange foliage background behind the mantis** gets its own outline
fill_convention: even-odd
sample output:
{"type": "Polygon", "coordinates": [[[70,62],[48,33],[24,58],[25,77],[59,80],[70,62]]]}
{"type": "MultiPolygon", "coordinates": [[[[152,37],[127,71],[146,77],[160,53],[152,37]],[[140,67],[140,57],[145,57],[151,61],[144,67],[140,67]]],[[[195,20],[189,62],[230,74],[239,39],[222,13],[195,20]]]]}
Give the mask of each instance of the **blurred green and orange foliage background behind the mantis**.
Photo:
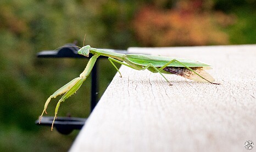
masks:
{"type": "MultiPolygon", "coordinates": [[[[79,132],[60,135],[35,120],[48,96],[78,77],[88,60],[37,59],[37,52],[82,46],[85,33],[94,48],[255,44],[255,8],[255,0],[1,0],[0,151],[67,151],[79,132]]],[[[101,96],[116,71],[98,62],[101,96]]],[[[59,116],[90,114],[90,81],[59,116]]]]}

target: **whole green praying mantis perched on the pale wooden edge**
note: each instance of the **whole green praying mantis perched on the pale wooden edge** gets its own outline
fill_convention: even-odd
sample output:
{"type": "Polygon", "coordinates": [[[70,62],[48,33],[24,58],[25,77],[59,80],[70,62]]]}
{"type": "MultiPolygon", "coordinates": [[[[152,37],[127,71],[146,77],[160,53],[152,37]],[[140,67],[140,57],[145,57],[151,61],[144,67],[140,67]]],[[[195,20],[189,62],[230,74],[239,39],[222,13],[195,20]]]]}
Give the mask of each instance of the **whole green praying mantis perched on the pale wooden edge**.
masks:
{"type": "Polygon", "coordinates": [[[82,83],[86,80],[88,75],[91,73],[97,58],[101,55],[108,57],[108,60],[110,61],[110,63],[112,63],[115,69],[119,72],[120,77],[122,77],[122,75],[119,69],[115,66],[114,62],[120,63],[121,65],[130,67],[132,69],[136,69],[138,71],[148,69],[150,72],[159,73],[169,83],[169,85],[172,85],[172,84],[167,78],[165,78],[163,74],[176,74],[176,75],[180,75],[181,77],[191,79],[194,81],[217,84],[217,83],[213,83],[214,78],[210,74],[204,71],[205,69],[209,69],[210,66],[198,61],[175,59],[172,57],[164,57],[164,56],[143,55],[143,54],[120,54],[120,53],[107,51],[103,49],[91,48],[90,45],[83,46],[82,48],[80,48],[78,53],[80,55],[84,55],[87,57],[91,53],[93,54],[93,56],[88,61],[85,70],[80,74],[78,78],[71,80],[68,84],[64,85],[59,90],[55,91],[47,99],[46,103],[44,104],[44,109],[40,116],[39,123],[42,119],[43,114],[44,113],[47,114],[46,109],[51,99],[64,94],[62,98],[60,98],[59,102],[57,103],[57,106],[55,107],[55,115],[52,122],[51,130],[53,130],[53,124],[55,119],[57,118],[60,103],[64,102],[67,98],[69,98],[77,90],[79,90],[82,83]]]}

